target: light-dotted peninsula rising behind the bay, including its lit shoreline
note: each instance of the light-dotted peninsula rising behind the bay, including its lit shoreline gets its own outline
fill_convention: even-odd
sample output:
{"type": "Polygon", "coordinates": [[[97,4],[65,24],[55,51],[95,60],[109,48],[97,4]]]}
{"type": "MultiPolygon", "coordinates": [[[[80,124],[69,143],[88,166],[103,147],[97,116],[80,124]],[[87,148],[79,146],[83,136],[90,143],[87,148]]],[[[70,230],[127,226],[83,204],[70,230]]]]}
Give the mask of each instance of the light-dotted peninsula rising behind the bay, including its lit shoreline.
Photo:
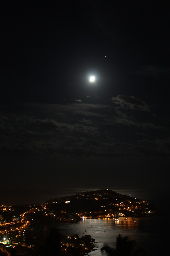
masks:
{"type": "Polygon", "coordinates": [[[86,191],[46,201],[46,208],[61,221],[77,218],[141,217],[158,214],[148,201],[122,195],[109,189],[86,191]]]}

